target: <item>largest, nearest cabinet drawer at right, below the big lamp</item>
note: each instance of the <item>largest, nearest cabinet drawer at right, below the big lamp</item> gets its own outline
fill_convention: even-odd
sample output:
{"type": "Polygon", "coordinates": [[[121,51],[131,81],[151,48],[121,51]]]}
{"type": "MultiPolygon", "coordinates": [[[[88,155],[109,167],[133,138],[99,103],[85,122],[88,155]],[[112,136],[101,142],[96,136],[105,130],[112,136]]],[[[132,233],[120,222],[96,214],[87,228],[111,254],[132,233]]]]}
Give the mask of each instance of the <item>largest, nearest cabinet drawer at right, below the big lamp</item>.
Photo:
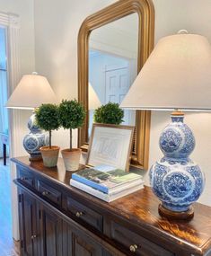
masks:
{"type": "Polygon", "coordinates": [[[111,238],[124,245],[128,252],[134,252],[135,255],[141,256],[173,256],[172,252],[168,252],[163,247],[152,243],[127,229],[126,227],[119,225],[111,221],[111,238]]]}

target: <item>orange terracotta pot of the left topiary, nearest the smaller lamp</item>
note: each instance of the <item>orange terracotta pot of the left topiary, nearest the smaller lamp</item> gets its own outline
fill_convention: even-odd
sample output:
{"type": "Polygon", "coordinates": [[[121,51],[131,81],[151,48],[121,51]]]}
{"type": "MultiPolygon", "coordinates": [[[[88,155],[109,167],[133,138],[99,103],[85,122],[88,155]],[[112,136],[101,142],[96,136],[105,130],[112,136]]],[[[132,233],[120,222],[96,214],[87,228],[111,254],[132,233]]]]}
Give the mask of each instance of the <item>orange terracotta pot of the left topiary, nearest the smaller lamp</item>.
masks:
{"type": "Polygon", "coordinates": [[[41,146],[40,152],[43,159],[43,164],[46,167],[55,167],[57,166],[57,157],[59,153],[59,146],[41,146]]]}

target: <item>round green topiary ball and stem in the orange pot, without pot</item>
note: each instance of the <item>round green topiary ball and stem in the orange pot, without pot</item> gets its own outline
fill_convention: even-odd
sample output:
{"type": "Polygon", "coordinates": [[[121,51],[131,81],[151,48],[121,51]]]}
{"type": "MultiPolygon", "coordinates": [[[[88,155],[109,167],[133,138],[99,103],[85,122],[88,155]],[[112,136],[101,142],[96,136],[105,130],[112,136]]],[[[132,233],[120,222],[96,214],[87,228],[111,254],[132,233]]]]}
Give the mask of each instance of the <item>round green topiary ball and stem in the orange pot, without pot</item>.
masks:
{"type": "Polygon", "coordinates": [[[54,104],[42,104],[35,110],[38,126],[49,132],[49,148],[51,148],[52,130],[59,128],[58,108],[54,104]]]}

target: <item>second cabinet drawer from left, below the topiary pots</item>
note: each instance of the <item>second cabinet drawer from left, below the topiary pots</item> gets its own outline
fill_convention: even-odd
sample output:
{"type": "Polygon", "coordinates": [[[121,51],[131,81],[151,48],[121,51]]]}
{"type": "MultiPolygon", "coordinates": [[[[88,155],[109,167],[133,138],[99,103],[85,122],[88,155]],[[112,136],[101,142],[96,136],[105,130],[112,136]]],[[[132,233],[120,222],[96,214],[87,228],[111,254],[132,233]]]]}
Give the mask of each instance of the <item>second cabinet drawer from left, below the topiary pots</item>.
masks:
{"type": "Polygon", "coordinates": [[[38,190],[44,198],[49,199],[51,202],[57,204],[57,206],[61,206],[62,193],[60,191],[40,180],[38,181],[38,190]]]}

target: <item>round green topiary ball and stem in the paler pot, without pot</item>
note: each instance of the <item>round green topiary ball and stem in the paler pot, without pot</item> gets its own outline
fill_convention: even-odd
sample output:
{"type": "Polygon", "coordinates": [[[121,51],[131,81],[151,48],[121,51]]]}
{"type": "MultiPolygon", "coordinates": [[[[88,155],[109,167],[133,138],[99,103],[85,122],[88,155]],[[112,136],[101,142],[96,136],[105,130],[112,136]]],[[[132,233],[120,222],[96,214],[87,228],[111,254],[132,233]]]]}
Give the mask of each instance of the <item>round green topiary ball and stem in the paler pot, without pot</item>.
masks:
{"type": "Polygon", "coordinates": [[[80,128],[84,124],[85,110],[82,103],[76,100],[62,101],[58,107],[58,117],[60,125],[70,130],[69,149],[72,150],[72,129],[80,128]]]}

